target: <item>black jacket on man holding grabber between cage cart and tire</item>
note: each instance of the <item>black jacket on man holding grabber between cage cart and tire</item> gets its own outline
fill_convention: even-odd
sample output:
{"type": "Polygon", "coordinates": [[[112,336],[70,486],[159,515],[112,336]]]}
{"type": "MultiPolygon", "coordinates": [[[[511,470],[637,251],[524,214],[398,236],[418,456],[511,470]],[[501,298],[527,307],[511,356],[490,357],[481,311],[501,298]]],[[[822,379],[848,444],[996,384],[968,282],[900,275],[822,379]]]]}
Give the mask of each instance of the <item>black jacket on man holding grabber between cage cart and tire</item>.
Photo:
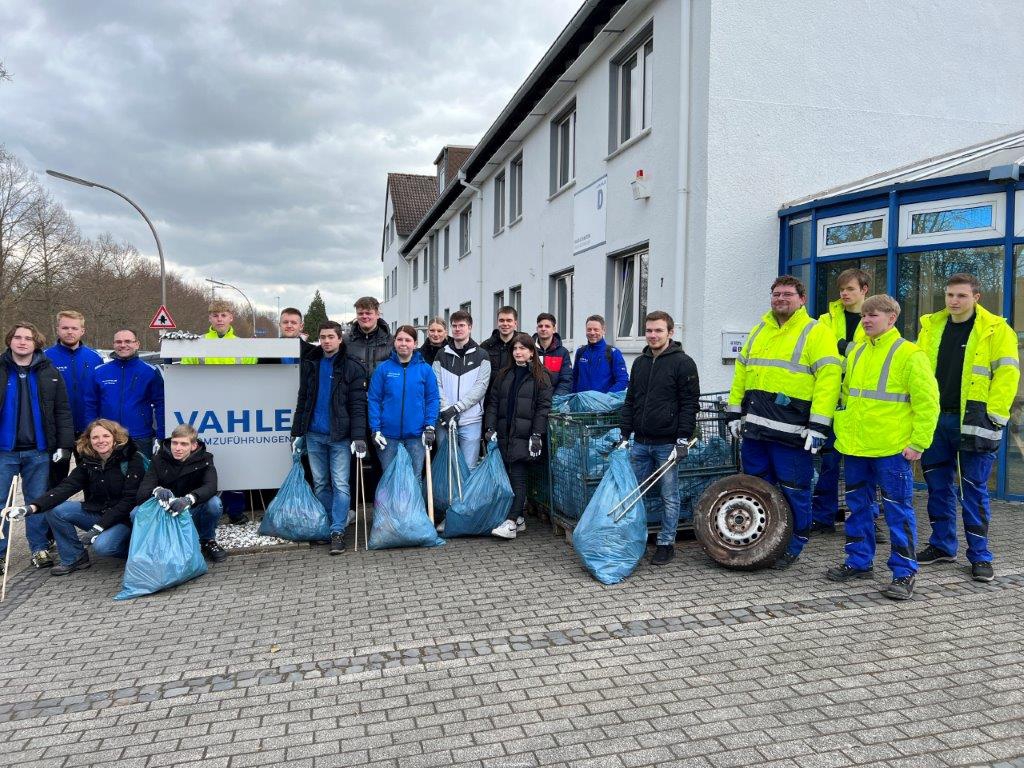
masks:
{"type": "Polygon", "coordinates": [[[620,413],[623,437],[635,433],[645,444],[690,439],[696,433],[700,381],[693,359],[678,341],[657,357],[650,347],[633,361],[626,402],[620,413]]]}

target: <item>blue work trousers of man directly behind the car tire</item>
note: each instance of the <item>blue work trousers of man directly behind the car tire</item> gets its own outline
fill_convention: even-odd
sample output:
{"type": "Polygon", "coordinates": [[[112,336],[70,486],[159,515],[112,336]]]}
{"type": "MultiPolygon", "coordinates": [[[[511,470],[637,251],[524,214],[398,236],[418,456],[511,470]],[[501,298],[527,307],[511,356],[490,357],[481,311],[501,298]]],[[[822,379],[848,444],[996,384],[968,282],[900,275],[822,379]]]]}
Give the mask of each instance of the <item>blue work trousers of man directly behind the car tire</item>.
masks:
{"type": "Polygon", "coordinates": [[[814,462],[810,451],[772,440],[744,437],[740,461],[749,475],[777,485],[793,511],[793,539],[786,553],[799,555],[811,534],[811,480],[814,462]]]}

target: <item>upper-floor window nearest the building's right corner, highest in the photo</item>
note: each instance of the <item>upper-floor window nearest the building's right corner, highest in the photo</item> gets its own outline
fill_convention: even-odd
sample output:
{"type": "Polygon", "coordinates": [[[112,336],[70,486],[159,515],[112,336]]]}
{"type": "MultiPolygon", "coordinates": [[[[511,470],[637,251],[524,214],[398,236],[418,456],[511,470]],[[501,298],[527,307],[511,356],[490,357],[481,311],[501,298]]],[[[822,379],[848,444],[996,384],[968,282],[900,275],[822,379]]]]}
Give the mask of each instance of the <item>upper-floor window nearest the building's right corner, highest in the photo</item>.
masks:
{"type": "Polygon", "coordinates": [[[611,61],[608,152],[650,128],[654,38],[648,26],[611,61]]]}

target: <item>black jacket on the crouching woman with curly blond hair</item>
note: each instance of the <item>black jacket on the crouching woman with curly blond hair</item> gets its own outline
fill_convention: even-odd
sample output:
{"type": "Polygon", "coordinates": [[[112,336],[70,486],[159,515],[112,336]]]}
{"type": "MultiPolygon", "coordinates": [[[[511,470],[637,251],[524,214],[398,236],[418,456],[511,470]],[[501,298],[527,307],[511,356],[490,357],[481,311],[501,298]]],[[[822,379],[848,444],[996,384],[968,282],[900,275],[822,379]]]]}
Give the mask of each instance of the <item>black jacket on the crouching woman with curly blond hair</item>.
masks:
{"type": "Polygon", "coordinates": [[[144,471],[142,457],[129,440],[115,447],[105,462],[83,456],[82,463],[59,485],[31,503],[39,512],[46,512],[81,490],[85,495],[82,509],[99,514],[99,527],[105,530],[122,522],[131,525],[131,511],[144,471]]]}

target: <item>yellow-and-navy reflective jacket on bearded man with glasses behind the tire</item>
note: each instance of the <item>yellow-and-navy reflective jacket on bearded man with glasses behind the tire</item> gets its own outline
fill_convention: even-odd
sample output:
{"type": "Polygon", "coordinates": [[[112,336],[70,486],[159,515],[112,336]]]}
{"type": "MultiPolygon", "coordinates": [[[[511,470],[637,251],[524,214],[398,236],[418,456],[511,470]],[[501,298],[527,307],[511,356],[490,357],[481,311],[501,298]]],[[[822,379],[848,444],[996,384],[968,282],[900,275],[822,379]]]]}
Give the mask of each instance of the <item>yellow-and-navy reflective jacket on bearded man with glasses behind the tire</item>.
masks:
{"type": "Polygon", "coordinates": [[[839,401],[836,337],[801,307],[781,327],[769,311],[746,337],[729,391],[728,412],[743,435],[803,445],[807,427],[828,433],[839,401]]]}

